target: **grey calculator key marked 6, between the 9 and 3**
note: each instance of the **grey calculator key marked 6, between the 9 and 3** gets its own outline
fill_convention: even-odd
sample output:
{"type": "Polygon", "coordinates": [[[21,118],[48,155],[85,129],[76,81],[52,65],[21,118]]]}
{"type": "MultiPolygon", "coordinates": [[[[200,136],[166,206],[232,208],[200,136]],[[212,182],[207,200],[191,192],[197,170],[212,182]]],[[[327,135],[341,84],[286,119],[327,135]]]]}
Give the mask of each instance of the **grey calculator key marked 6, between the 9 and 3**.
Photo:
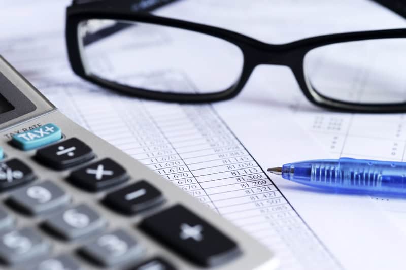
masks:
{"type": "Polygon", "coordinates": [[[67,209],[45,222],[47,228],[67,240],[87,237],[100,231],[105,225],[106,220],[85,204],[67,209]]]}

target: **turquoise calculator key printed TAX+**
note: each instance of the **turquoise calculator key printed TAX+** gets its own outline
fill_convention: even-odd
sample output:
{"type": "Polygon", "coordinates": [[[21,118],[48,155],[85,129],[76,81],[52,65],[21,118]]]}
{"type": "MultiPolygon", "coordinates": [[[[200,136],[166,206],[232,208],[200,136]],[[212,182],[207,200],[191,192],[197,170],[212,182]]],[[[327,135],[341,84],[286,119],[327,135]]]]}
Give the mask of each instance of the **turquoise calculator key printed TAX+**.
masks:
{"type": "Polygon", "coordinates": [[[13,135],[12,142],[22,150],[31,150],[62,138],[62,131],[54,124],[46,124],[22,133],[13,135]]]}

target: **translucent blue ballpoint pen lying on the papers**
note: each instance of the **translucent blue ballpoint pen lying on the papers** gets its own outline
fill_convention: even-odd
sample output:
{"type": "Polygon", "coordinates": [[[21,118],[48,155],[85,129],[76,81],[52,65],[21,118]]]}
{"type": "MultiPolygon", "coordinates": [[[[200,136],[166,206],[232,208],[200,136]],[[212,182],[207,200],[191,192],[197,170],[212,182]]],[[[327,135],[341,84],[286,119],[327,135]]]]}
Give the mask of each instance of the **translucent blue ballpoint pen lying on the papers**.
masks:
{"type": "Polygon", "coordinates": [[[406,194],[406,162],[342,157],[284,164],[268,172],[300,184],[336,191],[406,194]]]}

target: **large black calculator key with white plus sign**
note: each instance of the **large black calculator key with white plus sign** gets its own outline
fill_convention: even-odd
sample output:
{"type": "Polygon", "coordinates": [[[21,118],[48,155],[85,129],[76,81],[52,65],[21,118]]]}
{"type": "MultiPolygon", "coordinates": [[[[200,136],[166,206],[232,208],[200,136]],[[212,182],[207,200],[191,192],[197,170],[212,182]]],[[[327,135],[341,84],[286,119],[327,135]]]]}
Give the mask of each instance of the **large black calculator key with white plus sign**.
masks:
{"type": "Polygon", "coordinates": [[[140,228],[200,266],[217,266],[241,254],[234,241],[181,205],[147,217],[140,228]]]}

